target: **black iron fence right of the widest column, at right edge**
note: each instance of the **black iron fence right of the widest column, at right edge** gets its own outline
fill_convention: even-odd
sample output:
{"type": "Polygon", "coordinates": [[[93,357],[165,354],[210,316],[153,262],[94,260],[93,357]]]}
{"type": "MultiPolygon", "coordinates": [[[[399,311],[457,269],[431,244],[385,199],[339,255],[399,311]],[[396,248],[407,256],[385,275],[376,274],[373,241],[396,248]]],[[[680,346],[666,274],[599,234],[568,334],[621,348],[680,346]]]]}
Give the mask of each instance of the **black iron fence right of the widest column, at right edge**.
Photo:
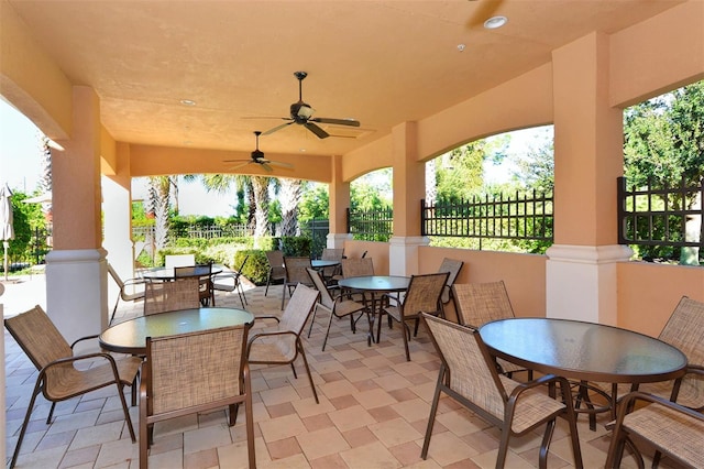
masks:
{"type": "MultiPolygon", "coordinates": [[[[618,242],[620,244],[704,248],[704,179],[675,187],[627,187],[618,178],[618,242]],[[694,229],[692,229],[694,227],[694,229]]],[[[674,254],[676,255],[676,253],[674,254]]]]}

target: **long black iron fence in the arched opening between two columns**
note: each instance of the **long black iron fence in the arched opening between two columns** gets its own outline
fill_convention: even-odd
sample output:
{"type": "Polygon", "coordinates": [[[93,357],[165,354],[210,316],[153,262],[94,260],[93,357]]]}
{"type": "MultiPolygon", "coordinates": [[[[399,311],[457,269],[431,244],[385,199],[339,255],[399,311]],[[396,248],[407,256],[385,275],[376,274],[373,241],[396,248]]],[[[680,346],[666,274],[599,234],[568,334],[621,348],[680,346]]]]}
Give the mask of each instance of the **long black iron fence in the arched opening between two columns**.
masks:
{"type": "Polygon", "coordinates": [[[421,234],[552,242],[553,205],[552,195],[536,190],[435,206],[420,200],[421,234]]]}

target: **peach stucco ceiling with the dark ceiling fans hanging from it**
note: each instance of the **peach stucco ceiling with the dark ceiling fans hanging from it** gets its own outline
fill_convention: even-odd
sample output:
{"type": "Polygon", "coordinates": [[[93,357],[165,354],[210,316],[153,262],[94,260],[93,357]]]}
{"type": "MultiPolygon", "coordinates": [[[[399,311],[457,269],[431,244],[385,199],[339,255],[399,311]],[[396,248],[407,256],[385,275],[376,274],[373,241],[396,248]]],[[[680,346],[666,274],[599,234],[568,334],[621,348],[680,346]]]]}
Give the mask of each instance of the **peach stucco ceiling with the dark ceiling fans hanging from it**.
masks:
{"type": "Polygon", "coordinates": [[[590,31],[613,33],[680,2],[10,0],[69,79],[95,88],[118,141],[251,151],[254,130],[284,122],[298,100],[294,72],[305,70],[315,116],[354,118],[360,129],[322,126],[346,137],[319,140],[293,124],[261,148],[328,155],[547,63],[590,31]],[[491,13],[508,23],[484,29],[491,13]]]}

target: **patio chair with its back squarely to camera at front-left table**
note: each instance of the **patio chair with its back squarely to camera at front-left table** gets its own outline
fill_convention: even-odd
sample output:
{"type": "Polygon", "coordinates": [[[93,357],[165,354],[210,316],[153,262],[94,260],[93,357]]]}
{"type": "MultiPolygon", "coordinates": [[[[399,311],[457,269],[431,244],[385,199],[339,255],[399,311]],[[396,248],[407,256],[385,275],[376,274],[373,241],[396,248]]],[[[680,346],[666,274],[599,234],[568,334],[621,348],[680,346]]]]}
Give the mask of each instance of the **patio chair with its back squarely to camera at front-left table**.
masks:
{"type": "Polygon", "coordinates": [[[240,404],[244,404],[249,467],[256,467],[248,331],[245,324],[146,339],[140,386],[140,468],[147,467],[155,423],[227,407],[232,427],[240,404]]]}

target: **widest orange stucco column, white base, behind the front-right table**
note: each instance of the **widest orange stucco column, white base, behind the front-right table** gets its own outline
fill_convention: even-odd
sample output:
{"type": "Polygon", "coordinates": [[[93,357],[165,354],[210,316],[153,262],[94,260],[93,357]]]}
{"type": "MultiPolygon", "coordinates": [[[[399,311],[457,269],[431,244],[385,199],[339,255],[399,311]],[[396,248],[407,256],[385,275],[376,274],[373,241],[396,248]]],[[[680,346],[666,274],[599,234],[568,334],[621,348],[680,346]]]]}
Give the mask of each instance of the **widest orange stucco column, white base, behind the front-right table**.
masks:
{"type": "Polygon", "coordinates": [[[616,178],[623,112],[608,105],[609,39],[592,33],[553,52],[554,244],[547,316],[616,324],[616,178]]]}

